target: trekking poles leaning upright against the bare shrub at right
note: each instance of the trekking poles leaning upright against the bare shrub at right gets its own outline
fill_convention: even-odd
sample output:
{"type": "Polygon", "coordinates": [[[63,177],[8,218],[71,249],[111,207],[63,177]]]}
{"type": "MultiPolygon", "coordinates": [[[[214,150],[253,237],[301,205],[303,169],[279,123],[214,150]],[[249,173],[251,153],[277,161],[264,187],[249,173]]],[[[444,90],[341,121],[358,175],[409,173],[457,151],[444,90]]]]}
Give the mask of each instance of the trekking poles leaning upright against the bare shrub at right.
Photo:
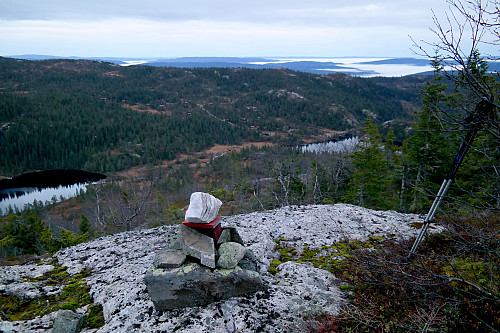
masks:
{"type": "Polygon", "coordinates": [[[453,161],[453,164],[451,165],[450,171],[444,178],[443,184],[441,184],[441,188],[439,189],[436,198],[434,199],[434,202],[432,203],[432,206],[429,209],[427,216],[425,217],[422,228],[420,229],[420,233],[415,239],[415,242],[413,243],[410,253],[406,257],[407,260],[412,260],[413,257],[415,256],[417,248],[424,239],[427,228],[429,228],[429,224],[434,218],[434,215],[436,215],[436,211],[439,208],[439,205],[441,204],[446,192],[450,188],[452,180],[455,178],[458,168],[460,167],[462,161],[464,160],[465,154],[467,154],[467,151],[472,145],[472,141],[474,141],[474,137],[479,131],[481,125],[486,120],[491,119],[494,116],[494,110],[495,110],[495,105],[489,100],[483,99],[476,105],[474,113],[465,118],[465,122],[468,126],[470,126],[470,129],[467,132],[467,135],[465,136],[464,140],[462,141],[462,145],[460,147],[460,150],[458,151],[457,156],[455,157],[455,160],[453,161]]]}

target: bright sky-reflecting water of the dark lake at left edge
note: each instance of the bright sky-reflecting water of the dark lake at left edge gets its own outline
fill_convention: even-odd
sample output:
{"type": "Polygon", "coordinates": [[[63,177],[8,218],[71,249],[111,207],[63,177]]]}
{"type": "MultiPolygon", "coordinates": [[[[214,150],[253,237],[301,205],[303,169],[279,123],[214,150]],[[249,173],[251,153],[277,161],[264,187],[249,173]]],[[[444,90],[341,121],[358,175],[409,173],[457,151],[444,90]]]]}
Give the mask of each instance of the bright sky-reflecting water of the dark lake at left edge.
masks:
{"type": "Polygon", "coordinates": [[[7,198],[0,200],[0,215],[6,214],[9,206],[13,211],[23,210],[36,201],[42,205],[52,204],[67,200],[87,191],[88,184],[73,184],[69,186],[48,187],[21,187],[0,190],[0,194],[7,198]]]}

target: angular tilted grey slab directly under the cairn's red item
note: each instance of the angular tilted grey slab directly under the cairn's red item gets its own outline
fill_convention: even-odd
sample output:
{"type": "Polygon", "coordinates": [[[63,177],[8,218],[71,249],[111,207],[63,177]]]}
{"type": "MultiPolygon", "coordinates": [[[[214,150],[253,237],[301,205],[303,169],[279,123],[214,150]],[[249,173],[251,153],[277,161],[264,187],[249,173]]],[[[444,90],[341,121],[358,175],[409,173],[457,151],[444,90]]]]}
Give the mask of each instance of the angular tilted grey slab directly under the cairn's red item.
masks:
{"type": "Polygon", "coordinates": [[[202,265],[215,268],[215,245],[213,238],[181,224],[179,226],[177,241],[180,243],[182,252],[185,255],[199,259],[202,265]]]}

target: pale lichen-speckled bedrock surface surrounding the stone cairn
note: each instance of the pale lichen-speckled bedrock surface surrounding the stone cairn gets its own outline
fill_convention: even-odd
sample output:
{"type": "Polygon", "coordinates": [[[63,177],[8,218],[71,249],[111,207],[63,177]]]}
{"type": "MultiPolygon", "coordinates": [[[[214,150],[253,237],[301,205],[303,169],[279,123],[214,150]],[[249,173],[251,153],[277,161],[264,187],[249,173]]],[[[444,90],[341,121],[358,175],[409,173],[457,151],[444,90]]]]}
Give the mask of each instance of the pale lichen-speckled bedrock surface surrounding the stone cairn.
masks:
{"type": "MultiPolygon", "coordinates": [[[[299,252],[304,243],[316,248],[345,238],[366,240],[372,235],[406,238],[418,233],[411,224],[422,219],[417,215],[344,204],[291,206],[225,217],[224,223],[237,227],[247,249],[258,258],[261,278],[269,288],[250,296],[163,313],[155,310],[144,277],[153,264],[155,252],[167,246],[166,236],[175,234],[177,226],[102,237],[63,249],[55,257],[64,266],[92,270],[87,283],[94,301],[103,305],[106,325],[82,332],[304,332],[304,311],[311,313],[320,308],[335,314],[344,302],[343,294],[329,272],[305,264],[287,262],[277,267],[276,276],[268,274],[269,263],[276,256],[275,239],[287,239],[299,252]]],[[[440,230],[436,227],[432,231],[440,230]]],[[[0,267],[0,273],[12,276],[10,270],[13,270],[23,276],[32,268],[30,265],[0,267]]],[[[25,327],[25,332],[50,332],[53,318],[51,314],[26,322],[0,322],[0,331],[20,332],[20,327],[25,327]]]]}

